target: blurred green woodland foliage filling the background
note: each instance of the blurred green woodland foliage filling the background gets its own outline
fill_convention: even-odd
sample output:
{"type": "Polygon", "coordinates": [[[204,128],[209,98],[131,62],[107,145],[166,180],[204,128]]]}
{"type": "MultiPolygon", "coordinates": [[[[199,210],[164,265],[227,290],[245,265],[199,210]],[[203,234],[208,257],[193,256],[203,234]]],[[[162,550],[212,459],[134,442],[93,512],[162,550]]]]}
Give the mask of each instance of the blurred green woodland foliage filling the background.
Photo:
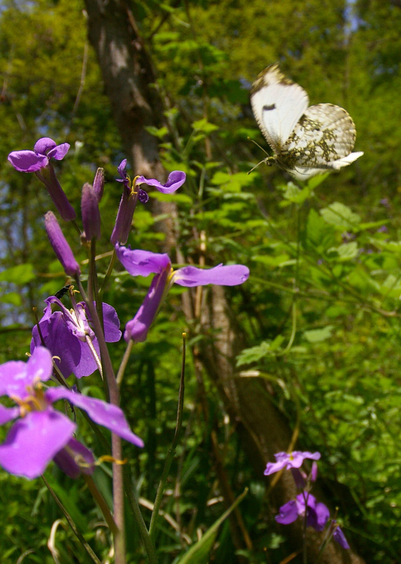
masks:
{"type": "MultiPolygon", "coordinates": [[[[41,311],[42,300],[66,283],[43,231],[43,214],[53,204],[34,175],[11,168],[8,153],[33,148],[41,136],[70,143],[58,175],[77,210],[82,184],[92,182],[98,166],[105,169],[99,253],[110,251],[121,194],[114,178],[126,155],[86,40],[84,6],[17,0],[0,7],[0,360],[6,362],[24,358],[29,348],[32,307],[41,311]]],[[[245,286],[229,290],[245,348],[238,368],[260,371],[274,403],[292,427],[299,425],[302,447],[322,453],[322,487],[339,505],[357,552],[367,562],[401,562],[401,7],[389,0],[199,0],[131,2],[130,8],[155,64],[155,88],[170,124],[170,132],[151,133],[165,167],[188,174],[171,197],[185,254],[197,263],[204,232],[210,266],[231,261],[251,269],[245,286]],[[347,109],[357,130],[355,150],[363,157],[302,186],[275,166],[247,175],[264,157],[248,137],[269,150],[252,117],[249,90],[275,61],[307,90],[311,104],[347,109]],[[342,503],[342,487],[352,503],[342,503]]],[[[64,225],[63,231],[85,259],[73,228],[64,225]]],[[[161,238],[149,206],[138,207],[129,243],[157,250],[161,238]]],[[[99,271],[107,264],[107,257],[99,259],[99,271]]],[[[114,276],[105,301],[121,324],[132,318],[148,286],[149,280],[114,276]]],[[[146,444],[140,455],[127,451],[138,491],[148,500],[175,428],[187,327],[181,292],[169,294],[149,338],[135,347],[123,390],[130,424],[146,444]]],[[[121,343],[112,350],[116,366],[123,350],[121,343]]],[[[225,424],[207,378],[214,423],[204,420],[191,360],[187,378],[185,434],[172,473],[178,472],[182,493],[173,495],[172,478],[163,509],[181,519],[193,541],[197,529],[206,530],[223,513],[211,464],[209,425],[215,424],[233,490],[250,486],[241,512],[254,549],[242,556],[278,564],[289,552],[287,533],[268,508],[267,482],[255,475],[225,424]]],[[[95,376],[80,384],[102,396],[95,376]]],[[[84,422],[80,432],[96,449],[84,422]]],[[[97,480],[110,498],[107,472],[99,468],[97,480]]],[[[106,561],[107,531],[84,484],[62,477],[53,465],[46,475],[106,561]]],[[[53,562],[46,542],[59,513],[40,479],[0,472],[0,480],[2,562],[14,563],[30,549],[25,562],[53,562]]],[[[129,562],[145,562],[138,532],[130,521],[129,527],[129,562]]],[[[158,544],[163,564],[186,547],[162,519],[158,544]]],[[[86,562],[68,528],[60,525],[56,545],[60,563],[86,562]]],[[[233,554],[225,523],[211,561],[231,562],[233,554]]]]}

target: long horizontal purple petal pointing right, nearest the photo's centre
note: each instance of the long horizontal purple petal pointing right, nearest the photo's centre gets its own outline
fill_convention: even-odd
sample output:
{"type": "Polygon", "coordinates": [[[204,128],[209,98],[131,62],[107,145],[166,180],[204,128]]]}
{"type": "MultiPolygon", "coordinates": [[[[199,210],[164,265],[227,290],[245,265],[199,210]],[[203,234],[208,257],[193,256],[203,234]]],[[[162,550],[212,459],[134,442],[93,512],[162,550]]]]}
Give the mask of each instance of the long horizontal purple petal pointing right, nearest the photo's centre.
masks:
{"type": "Polygon", "coordinates": [[[220,286],[236,286],[249,277],[249,268],[243,265],[215,266],[208,270],[195,266],[178,268],[173,274],[173,281],[180,286],[203,286],[219,284],[220,286]]]}

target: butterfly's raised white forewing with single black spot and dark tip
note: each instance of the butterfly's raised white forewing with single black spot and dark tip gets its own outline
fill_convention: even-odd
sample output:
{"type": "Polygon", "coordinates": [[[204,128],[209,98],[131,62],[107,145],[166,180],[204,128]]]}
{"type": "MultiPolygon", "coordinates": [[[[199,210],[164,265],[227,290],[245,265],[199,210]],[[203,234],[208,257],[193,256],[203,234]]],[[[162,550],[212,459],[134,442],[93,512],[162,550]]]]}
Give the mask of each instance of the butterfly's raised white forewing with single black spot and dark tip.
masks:
{"type": "Polygon", "coordinates": [[[252,111],[276,154],[281,152],[308,103],[306,91],[286,78],[277,63],[264,69],[252,85],[252,111]]]}

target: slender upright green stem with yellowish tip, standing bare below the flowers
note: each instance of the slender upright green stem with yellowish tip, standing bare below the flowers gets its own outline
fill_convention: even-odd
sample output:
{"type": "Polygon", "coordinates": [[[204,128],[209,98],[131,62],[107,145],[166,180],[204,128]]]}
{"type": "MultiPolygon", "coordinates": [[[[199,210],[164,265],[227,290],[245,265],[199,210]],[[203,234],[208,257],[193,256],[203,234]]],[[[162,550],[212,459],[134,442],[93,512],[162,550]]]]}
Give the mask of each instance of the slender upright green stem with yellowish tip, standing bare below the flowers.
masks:
{"type": "Polygon", "coordinates": [[[180,436],[181,425],[182,425],[182,411],[184,408],[184,380],[185,380],[185,343],[186,343],[186,333],[182,333],[182,365],[181,365],[181,377],[180,377],[180,389],[178,390],[178,407],[177,407],[177,422],[176,431],[174,433],[174,439],[171,447],[167,451],[165,457],[164,468],[162,472],[162,477],[160,478],[158,491],[156,492],[155,504],[152,510],[152,516],[150,518],[149,535],[150,539],[154,541],[156,522],[159,517],[160,504],[162,503],[162,496],[165,488],[165,483],[167,482],[168,473],[170,470],[171,463],[173,461],[174,455],[176,453],[176,447],[178,443],[178,437],[180,436]]]}

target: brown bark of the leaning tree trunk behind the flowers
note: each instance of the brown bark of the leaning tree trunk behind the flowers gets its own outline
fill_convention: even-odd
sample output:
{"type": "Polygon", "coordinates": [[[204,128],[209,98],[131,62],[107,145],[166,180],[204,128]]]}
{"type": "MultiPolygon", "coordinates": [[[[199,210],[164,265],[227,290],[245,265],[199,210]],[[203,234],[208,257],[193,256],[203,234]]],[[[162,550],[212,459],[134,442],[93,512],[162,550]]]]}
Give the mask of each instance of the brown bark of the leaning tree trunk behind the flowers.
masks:
{"type": "MultiPolygon", "coordinates": [[[[158,157],[158,146],[146,126],[163,123],[163,104],[158,92],[150,87],[155,82],[151,58],[146,50],[136,23],[123,2],[110,0],[85,0],[88,12],[88,34],[97,53],[102,70],[104,86],[114,118],[119,128],[124,151],[132,157],[135,174],[150,178],[165,178],[165,171],[158,157]]],[[[163,202],[157,212],[168,213],[170,220],[163,223],[167,235],[166,248],[176,244],[173,205],[163,202]]],[[[179,249],[178,262],[181,262],[179,249]]],[[[189,320],[194,318],[196,307],[183,294],[183,309],[189,320]]],[[[213,287],[203,294],[201,314],[202,331],[206,335],[219,329],[217,336],[205,338],[204,345],[195,351],[195,364],[202,364],[212,378],[231,421],[241,435],[244,448],[249,452],[255,476],[261,477],[267,461],[273,460],[275,452],[285,451],[289,446],[291,431],[284,416],[269,399],[263,382],[253,378],[238,378],[234,359],[241,350],[239,336],[229,315],[225,293],[221,287],[213,287]]],[[[283,473],[273,488],[273,504],[280,506],[293,498],[295,488],[289,472],[283,473]]],[[[317,493],[319,497],[319,493],[317,493]]],[[[238,523],[237,523],[238,524],[238,523]]],[[[241,527],[240,527],[241,528],[241,527]]],[[[298,525],[292,526],[291,536],[295,548],[301,546],[302,532],[298,525]]],[[[308,529],[308,558],[315,562],[319,534],[308,529]]],[[[363,559],[352,551],[342,550],[330,543],[325,550],[322,564],[363,564],[363,559]]]]}

